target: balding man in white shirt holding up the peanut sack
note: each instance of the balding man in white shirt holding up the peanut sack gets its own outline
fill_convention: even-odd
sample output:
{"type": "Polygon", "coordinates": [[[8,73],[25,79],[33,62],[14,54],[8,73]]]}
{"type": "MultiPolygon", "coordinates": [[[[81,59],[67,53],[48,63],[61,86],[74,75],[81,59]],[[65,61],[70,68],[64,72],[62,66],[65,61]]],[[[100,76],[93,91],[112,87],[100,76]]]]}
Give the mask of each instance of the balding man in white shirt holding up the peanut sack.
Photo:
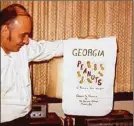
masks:
{"type": "Polygon", "coordinates": [[[0,12],[1,124],[28,125],[31,110],[31,81],[28,63],[63,55],[63,41],[36,42],[30,39],[32,18],[19,4],[0,12]]]}

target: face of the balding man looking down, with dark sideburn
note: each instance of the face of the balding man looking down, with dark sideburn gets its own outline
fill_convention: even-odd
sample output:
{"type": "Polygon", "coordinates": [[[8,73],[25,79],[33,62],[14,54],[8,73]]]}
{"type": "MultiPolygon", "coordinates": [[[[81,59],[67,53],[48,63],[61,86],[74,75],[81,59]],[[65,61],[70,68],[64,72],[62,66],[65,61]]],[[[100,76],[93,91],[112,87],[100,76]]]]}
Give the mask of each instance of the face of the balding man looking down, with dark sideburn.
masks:
{"type": "Polygon", "coordinates": [[[31,33],[31,20],[27,16],[18,16],[15,22],[7,27],[3,34],[2,47],[9,52],[17,52],[23,45],[29,44],[29,35],[31,33]]]}

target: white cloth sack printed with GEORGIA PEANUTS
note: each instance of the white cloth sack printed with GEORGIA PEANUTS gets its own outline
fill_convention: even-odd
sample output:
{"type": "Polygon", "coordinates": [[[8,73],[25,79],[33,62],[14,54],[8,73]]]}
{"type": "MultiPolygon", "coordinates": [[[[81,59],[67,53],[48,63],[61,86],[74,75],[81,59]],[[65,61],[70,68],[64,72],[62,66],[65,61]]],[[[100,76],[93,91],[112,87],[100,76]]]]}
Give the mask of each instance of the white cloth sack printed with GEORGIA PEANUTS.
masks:
{"type": "Polygon", "coordinates": [[[113,108],[116,37],[64,41],[65,114],[104,116],[113,108]]]}

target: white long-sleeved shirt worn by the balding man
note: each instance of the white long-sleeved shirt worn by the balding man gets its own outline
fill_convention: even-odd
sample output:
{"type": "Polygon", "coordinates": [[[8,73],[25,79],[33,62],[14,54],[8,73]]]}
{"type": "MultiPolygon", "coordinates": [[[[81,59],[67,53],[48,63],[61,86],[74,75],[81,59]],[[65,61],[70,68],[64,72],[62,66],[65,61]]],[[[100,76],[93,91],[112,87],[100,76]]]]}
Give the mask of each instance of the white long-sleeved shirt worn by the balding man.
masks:
{"type": "Polygon", "coordinates": [[[36,42],[30,39],[19,52],[7,55],[1,48],[1,122],[25,116],[31,110],[31,81],[28,63],[63,55],[63,41],[36,42]]]}

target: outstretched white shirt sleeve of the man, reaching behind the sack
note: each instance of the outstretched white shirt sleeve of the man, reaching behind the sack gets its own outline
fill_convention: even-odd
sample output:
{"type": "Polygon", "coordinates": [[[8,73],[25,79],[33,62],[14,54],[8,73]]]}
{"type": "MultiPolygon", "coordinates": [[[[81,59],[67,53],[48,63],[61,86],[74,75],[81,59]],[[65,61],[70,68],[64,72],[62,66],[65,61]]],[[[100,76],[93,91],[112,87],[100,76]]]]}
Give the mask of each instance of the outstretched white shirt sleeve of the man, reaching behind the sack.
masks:
{"type": "Polygon", "coordinates": [[[29,41],[27,45],[28,60],[31,61],[45,61],[53,57],[63,56],[63,40],[50,41],[29,41]]]}

